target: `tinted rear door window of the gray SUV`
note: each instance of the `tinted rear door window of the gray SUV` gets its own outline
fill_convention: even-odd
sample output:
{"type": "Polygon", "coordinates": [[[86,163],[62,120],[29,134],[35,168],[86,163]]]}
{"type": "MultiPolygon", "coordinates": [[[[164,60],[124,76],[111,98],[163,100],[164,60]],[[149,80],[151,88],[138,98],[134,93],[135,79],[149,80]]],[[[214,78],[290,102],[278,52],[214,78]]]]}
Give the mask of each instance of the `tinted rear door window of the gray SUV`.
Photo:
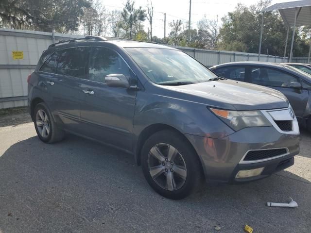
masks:
{"type": "Polygon", "coordinates": [[[57,59],[57,73],[83,78],[85,77],[85,61],[85,48],[62,50],[57,59]]]}

